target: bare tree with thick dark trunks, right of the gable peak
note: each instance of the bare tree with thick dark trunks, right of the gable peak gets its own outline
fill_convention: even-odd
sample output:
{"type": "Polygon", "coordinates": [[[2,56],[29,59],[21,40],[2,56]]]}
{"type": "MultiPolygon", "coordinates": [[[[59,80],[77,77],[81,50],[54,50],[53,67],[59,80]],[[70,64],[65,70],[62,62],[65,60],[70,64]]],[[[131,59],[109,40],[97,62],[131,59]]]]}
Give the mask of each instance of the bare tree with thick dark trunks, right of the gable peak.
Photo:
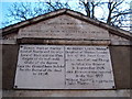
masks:
{"type": "Polygon", "coordinates": [[[107,2],[102,2],[102,0],[79,0],[80,6],[85,7],[87,16],[97,19],[97,20],[102,20],[103,22],[114,25],[114,26],[121,26],[123,25],[129,18],[130,14],[132,14],[132,9],[124,9],[122,8],[124,6],[128,6],[124,0],[108,0],[107,2]],[[103,13],[102,16],[99,19],[95,16],[96,13],[96,8],[102,8],[107,13],[103,13]]]}

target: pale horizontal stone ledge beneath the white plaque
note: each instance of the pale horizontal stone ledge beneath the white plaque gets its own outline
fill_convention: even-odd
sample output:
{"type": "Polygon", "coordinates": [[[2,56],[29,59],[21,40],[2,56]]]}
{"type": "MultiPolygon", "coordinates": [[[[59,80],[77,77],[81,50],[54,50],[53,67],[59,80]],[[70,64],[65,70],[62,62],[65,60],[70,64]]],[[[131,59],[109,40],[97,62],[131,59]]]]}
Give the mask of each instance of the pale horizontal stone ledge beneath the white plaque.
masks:
{"type": "Polygon", "coordinates": [[[130,97],[122,90],[3,90],[3,97],[130,97]]]}

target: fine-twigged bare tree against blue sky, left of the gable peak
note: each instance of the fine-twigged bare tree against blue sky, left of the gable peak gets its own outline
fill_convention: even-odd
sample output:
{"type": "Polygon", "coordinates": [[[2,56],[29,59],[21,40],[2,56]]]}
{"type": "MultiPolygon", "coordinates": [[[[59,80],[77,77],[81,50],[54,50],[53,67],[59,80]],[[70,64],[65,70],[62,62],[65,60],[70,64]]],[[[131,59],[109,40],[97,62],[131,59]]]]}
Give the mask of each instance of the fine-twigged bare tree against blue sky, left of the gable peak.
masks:
{"type": "Polygon", "coordinates": [[[56,0],[55,2],[52,2],[51,0],[46,0],[46,2],[14,2],[8,9],[8,21],[4,21],[3,25],[25,21],[63,8],[70,9],[68,1],[64,3],[59,2],[59,0],[56,0]]]}

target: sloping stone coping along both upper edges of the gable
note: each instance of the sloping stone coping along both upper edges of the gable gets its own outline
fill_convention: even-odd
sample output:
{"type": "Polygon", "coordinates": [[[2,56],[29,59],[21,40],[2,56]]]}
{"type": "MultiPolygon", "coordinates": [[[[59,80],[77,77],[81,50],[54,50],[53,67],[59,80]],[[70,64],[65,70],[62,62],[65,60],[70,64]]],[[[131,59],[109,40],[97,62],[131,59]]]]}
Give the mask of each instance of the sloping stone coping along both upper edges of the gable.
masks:
{"type": "Polygon", "coordinates": [[[16,24],[13,24],[13,25],[10,25],[10,26],[7,26],[7,28],[3,28],[3,29],[1,29],[2,30],[2,35],[7,35],[7,34],[11,33],[11,31],[19,31],[20,28],[30,25],[32,23],[40,22],[42,20],[54,18],[54,16],[57,16],[57,15],[64,14],[64,13],[66,13],[70,16],[74,16],[76,19],[84,20],[84,21],[89,22],[91,24],[98,25],[100,28],[103,28],[103,29],[108,30],[109,32],[114,33],[117,35],[120,35],[120,36],[123,36],[125,38],[132,40],[132,33],[131,32],[128,32],[128,31],[111,26],[107,23],[90,19],[90,18],[84,15],[80,12],[75,12],[75,11],[69,10],[69,9],[61,9],[61,10],[57,10],[57,11],[53,11],[53,12],[50,12],[50,13],[46,13],[46,14],[43,14],[43,15],[38,15],[36,18],[33,18],[33,19],[30,19],[30,20],[26,20],[26,21],[23,21],[23,22],[20,22],[20,23],[16,23],[16,24]]]}

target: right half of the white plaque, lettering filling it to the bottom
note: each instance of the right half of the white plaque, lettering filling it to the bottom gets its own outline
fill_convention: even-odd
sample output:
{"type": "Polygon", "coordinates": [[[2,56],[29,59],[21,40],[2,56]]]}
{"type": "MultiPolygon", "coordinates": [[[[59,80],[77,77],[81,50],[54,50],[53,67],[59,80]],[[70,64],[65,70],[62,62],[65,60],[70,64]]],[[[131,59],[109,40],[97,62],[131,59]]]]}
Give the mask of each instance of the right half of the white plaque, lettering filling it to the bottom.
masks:
{"type": "Polygon", "coordinates": [[[66,46],[66,86],[75,89],[114,87],[107,46],[66,46]]]}

